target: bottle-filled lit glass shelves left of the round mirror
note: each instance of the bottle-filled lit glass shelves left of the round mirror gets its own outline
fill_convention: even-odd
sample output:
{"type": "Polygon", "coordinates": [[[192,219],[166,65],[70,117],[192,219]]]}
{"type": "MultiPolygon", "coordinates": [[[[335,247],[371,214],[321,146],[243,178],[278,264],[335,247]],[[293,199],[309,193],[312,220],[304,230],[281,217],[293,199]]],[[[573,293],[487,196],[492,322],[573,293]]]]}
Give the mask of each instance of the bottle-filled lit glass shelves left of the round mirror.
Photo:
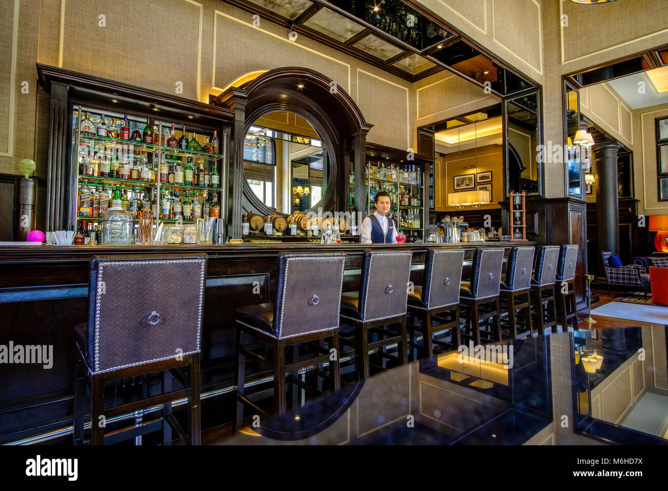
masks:
{"type": "Polygon", "coordinates": [[[205,151],[214,150],[212,141],[217,130],[220,128],[194,128],[156,120],[149,115],[126,116],[97,108],[75,107],[72,114],[72,146],[78,151],[72,152],[72,182],[75,186],[71,197],[73,230],[79,228],[80,222],[86,222],[87,227],[98,222],[108,206],[104,199],[98,197],[111,197],[117,188],[122,197],[127,198],[123,200],[124,204],[130,202],[130,212],[150,206],[156,226],[160,222],[194,222],[194,219],[184,220],[182,216],[168,220],[161,218],[162,202],[166,199],[170,206],[176,200],[183,206],[187,196],[192,208],[197,202],[196,207],[202,211],[210,209],[216,201],[223,203],[224,138],[215,134],[219,139],[218,150],[222,151],[205,151]],[[100,128],[103,118],[104,125],[100,128]],[[84,132],[82,125],[89,132],[84,132]],[[144,132],[146,126],[150,126],[150,131],[144,132]],[[127,133],[122,132],[125,128],[128,128],[127,133]],[[97,134],[98,130],[100,134],[97,134]],[[134,136],[135,139],[120,136],[134,136]],[[196,142],[200,150],[175,148],[168,142],[170,137],[177,145],[196,142]],[[140,138],[145,141],[139,141],[140,138]],[[186,180],[190,180],[190,170],[193,183],[185,184],[186,180]],[[137,178],[130,178],[132,176],[137,178]],[[173,182],[180,180],[181,176],[183,182],[173,182]],[[86,206],[90,209],[88,216],[81,214],[86,206]]]}

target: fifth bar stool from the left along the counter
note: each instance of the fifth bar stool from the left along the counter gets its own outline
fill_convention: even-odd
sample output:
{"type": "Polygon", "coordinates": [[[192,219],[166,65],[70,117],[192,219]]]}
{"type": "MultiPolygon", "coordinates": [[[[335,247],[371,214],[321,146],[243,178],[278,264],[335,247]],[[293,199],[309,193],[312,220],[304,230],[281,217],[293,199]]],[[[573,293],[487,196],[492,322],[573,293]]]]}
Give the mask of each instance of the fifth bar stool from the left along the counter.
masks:
{"type": "Polygon", "coordinates": [[[490,335],[486,341],[501,341],[501,321],[499,309],[499,287],[503,266],[503,249],[482,249],[478,247],[473,255],[471,281],[462,281],[460,285],[460,305],[466,310],[462,317],[466,319],[463,337],[472,339],[479,345],[481,333],[490,335]],[[494,318],[494,332],[481,331],[480,321],[489,324],[494,318]],[[493,337],[493,339],[492,339],[493,337]]]}

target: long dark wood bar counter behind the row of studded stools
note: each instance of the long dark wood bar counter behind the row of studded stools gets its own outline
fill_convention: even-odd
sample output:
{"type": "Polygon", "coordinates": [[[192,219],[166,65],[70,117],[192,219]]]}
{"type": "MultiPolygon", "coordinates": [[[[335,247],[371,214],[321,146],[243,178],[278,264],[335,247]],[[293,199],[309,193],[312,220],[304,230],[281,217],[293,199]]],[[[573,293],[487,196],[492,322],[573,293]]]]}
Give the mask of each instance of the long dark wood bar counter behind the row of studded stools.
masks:
{"type": "MultiPolygon", "coordinates": [[[[343,291],[359,288],[363,251],[409,249],[411,281],[422,285],[426,250],[464,249],[463,279],[470,277],[476,247],[505,249],[537,242],[463,242],[460,244],[225,244],[222,246],[104,247],[41,246],[0,248],[0,344],[53,345],[53,366],[0,365],[0,444],[16,442],[71,426],[76,352],[74,327],[87,320],[89,262],[96,255],[183,255],[209,257],[202,325],[202,398],[229,393],[233,385],[234,309],[271,302],[275,296],[277,255],[345,253],[343,291]],[[227,392],[220,390],[227,387],[227,392]]],[[[505,269],[505,266],[504,266],[505,269]]],[[[313,271],[317,275],[317,271],[313,271]]],[[[322,281],[328,281],[323,278],[322,281]]],[[[165,295],[180,294],[178,278],[156,285],[165,295]]],[[[128,285],[128,295],[133,295],[128,285]]],[[[118,308],[124,308],[119,305],[118,308]]],[[[223,397],[211,397],[223,399],[223,397]]],[[[227,411],[208,411],[202,401],[202,429],[232,420],[227,411]]],[[[209,404],[210,405],[210,404],[209,404]]],[[[216,404],[218,405],[218,404],[216,404]]],[[[230,404],[220,402],[220,408],[230,404]]],[[[64,438],[64,437],[63,437],[64,438]]]]}

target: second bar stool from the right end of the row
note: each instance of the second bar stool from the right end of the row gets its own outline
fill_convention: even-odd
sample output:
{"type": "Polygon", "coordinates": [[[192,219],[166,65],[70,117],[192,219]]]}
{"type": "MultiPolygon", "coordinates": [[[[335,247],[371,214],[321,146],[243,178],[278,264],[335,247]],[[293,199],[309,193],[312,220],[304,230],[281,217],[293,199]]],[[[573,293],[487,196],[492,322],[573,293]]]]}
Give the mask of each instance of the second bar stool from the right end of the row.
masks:
{"type": "MultiPolygon", "coordinates": [[[[556,295],[554,278],[559,256],[558,246],[542,246],[536,255],[536,269],[531,279],[532,306],[536,309],[533,325],[542,336],[545,329],[556,333],[556,295]]],[[[533,334],[533,329],[532,329],[533,334]]]]}

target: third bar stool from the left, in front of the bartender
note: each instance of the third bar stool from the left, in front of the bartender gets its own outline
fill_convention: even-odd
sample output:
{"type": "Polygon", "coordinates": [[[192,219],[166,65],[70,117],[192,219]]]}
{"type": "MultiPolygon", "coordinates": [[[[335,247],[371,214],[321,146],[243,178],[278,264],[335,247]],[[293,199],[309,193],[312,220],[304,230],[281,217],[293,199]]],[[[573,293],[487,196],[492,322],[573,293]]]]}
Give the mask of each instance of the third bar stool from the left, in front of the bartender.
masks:
{"type": "Polygon", "coordinates": [[[341,324],[355,327],[355,339],[341,337],[341,344],[355,348],[360,379],[371,375],[369,351],[379,350],[380,369],[384,368],[383,358],[396,359],[402,365],[407,362],[406,304],[412,256],[403,250],[364,251],[359,292],[341,295],[341,324]],[[399,324],[396,332],[385,329],[392,324],[399,324]],[[379,339],[369,342],[369,334],[379,339]],[[397,355],[385,353],[394,343],[397,355]]]}

